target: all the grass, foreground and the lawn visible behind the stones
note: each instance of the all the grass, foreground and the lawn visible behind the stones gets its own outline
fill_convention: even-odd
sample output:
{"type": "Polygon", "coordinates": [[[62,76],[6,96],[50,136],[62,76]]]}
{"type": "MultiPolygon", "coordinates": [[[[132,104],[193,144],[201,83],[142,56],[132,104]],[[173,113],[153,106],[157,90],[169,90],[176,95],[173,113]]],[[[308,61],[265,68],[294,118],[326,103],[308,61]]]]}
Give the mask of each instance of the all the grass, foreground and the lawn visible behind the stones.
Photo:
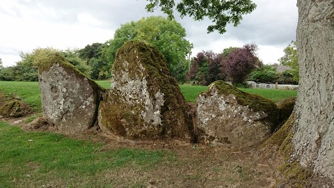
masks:
{"type": "MultiPolygon", "coordinates": [[[[110,87],[109,81],[97,82],[105,88],[110,87]]],[[[206,86],[186,85],[180,88],[186,100],[191,102],[207,89],[206,86]]],[[[274,101],[296,95],[296,91],[243,90],[274,101]]],[[[33,109],[41,110],[37,82],[0,81],[0,92],[22,97],[33,109]]],[[[35,117],[28,117],[24,122],[35,117]]],[[[100,134],[71,138],[49,132],[25,132],[19,126],[1,120],[1,188],[250,188],[272,187],[276,182],[279,162],[257,157],[249,152],[249,148],[241,150],[190,143],[133,144],[108,140],[100,134]]]]}

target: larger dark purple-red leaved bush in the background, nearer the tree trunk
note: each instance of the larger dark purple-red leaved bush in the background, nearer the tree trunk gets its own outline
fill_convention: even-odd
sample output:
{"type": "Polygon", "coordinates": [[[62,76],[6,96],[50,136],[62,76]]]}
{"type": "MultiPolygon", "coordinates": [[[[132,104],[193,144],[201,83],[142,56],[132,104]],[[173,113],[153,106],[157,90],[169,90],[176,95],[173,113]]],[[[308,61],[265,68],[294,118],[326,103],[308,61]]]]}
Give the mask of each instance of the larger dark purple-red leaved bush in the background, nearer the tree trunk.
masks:
{"type": "Polygon", "coordinates": [[[234,48],[221,62],[221,70],[232,79],[234,83],[246,80],[247,75],[260,65],[255,56],[257,45],[244,45],[242,48],[234,48]]]}

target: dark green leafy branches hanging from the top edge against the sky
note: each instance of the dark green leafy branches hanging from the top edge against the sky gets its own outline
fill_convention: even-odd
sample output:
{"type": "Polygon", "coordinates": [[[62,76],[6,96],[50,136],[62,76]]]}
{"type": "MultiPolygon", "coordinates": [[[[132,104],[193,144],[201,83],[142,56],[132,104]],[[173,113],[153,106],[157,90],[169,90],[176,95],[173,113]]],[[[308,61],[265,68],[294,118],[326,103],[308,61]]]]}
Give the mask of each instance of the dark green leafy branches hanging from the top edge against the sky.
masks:
{"type": "MultiPolygon", "coordinates": [[[[149,12],[153,12],[160,7],[161,11],[168,15],[168,18],[174,18],[174,0],[147,1],[149,3],[146,9],[149,12]]],[[[181,14],[181,17],[189,15],[195,20],[202,20],[205,17],[209,18],[214,24],[207,27],[208,33],[215,30],[219,33],[225,33],[225,27],[228,23],[237,26],[240,24],[242,15],[251,13],[255,8],[255,3],[250,0],[181,0],[176,5],[176,10],[181,14]]]]}

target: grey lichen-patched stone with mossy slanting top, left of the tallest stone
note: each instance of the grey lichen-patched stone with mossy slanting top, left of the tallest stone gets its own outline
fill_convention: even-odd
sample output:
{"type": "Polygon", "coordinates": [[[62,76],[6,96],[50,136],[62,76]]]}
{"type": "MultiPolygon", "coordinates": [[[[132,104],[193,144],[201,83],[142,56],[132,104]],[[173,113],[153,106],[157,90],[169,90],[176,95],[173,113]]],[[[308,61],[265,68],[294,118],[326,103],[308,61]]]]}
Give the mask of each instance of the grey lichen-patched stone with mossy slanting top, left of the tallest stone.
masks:
{"type": "Polygon", "coordinates": [[[61,132],[83,132],[97,119],[103,88],[58,53],[38,66],[42,111],[47,123],[61,132]]]}

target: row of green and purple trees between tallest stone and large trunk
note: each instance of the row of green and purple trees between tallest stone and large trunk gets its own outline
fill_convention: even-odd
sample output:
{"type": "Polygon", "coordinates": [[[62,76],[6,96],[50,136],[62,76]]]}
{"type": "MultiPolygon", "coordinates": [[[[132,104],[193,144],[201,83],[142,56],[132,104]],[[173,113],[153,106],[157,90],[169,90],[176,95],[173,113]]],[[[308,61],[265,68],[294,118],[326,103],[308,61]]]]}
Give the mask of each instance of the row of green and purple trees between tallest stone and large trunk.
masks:
{"type": "Polygon", "coordinates": [[[285,55],[278,59],[280,64],[264,65],[256,56],[257,45],[230,47],[222,53],[203,51],[191,60],[191,68],[186,79],[208,85],[216,80],[232,81],[237,86],[246,86],[244,81],[251,80],[262,83],[298,84],[299,68],[296,58],[296,46],[292,41],[284,49],[285,55]],[[287,66],[280,72],[277,68],[287,66]]]}

